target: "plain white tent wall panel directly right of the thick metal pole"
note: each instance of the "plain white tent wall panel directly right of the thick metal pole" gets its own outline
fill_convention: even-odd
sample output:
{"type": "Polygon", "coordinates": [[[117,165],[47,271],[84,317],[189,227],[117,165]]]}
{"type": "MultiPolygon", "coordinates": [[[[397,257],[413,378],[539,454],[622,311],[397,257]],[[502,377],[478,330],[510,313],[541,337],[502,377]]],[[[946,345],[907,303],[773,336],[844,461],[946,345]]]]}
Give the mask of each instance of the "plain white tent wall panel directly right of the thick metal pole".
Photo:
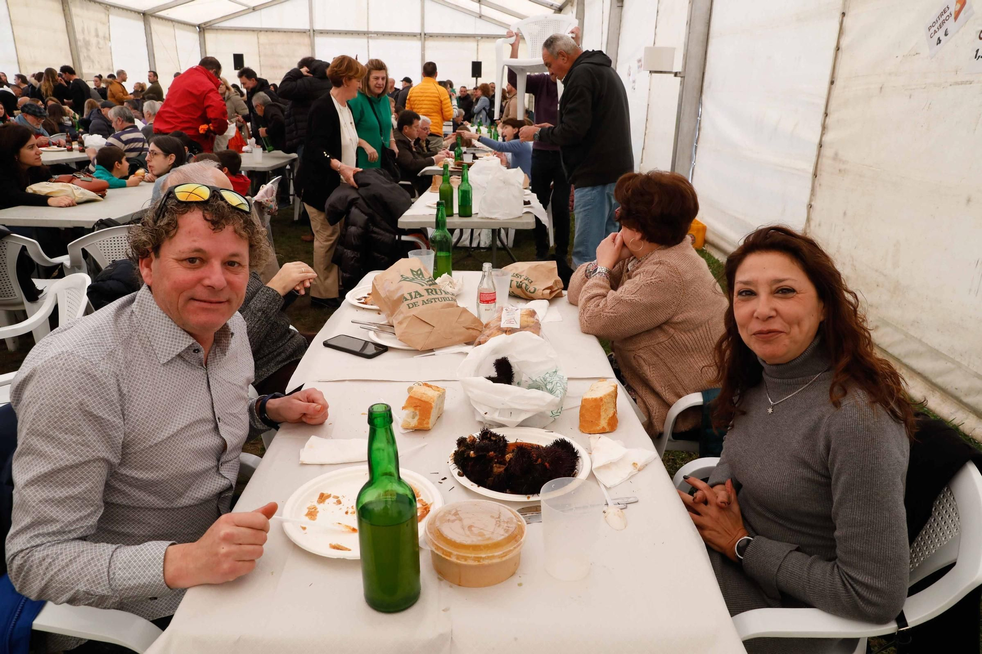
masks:
{"type": "Polygon", "coordinates": [[[713,5],[692,183],[718,242],[732,247],[758,225],[804,227],[841,9],[713,5]]]}

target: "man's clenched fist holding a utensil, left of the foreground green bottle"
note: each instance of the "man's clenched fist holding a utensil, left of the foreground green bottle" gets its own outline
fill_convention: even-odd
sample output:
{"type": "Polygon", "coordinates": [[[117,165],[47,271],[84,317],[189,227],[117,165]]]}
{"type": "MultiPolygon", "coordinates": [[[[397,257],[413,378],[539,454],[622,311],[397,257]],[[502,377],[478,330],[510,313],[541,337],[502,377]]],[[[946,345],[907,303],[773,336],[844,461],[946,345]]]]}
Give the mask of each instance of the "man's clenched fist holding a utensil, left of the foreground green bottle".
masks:
{"type": "Polygon", "coordinates": [[[164,553],[164,583],[169,588],[191,588],[252,572],[276,510],[276,503],[270,502],[249,513],[225,514],[195,542],[171,545],[164,553]]]}

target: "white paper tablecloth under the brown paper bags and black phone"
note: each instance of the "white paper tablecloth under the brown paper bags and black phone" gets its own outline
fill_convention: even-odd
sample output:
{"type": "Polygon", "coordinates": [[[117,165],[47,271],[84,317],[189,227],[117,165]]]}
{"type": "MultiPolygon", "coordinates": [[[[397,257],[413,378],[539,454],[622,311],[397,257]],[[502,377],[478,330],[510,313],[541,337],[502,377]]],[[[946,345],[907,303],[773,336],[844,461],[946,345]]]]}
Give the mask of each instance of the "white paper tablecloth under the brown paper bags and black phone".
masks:
{"type": "MultiPolygon", "coordinates": [[[[375,273],[365,277],[362,284],[370,284],[375,273]]],[[[471,311],[477,307],[477,284],[480,282],[478,272],[455,272],[454,277],[464,280],[464,291],[458,296],[458,303],[471,311]]],[[[526,300],[510,298],[516,305],[526,300]]],[[[597,377],[607,374],[610,365],[607,356],[597,345],[592,336],[579,331],[578,309],[566,297],[551,300],[550,311],[557,311],[562,316],[560,322],[546,322],[542,325],[542,335],[548,340],[557,353],[562,357],[563,372],[571,378],[597,377]],[[564,355],[564,353],[569,355],[564,355]],[[573,353],[575,353],[573,355],[573,353]]],[[[419,379],[457,379],[457,367],[464,360],[465,354],[440,354],[436,356],[419,356],[416,351],[389,350],[377,358],[361,358],[345,354],[337,350],[325,348],[322,344],[332,336],[348,334],[366,341],[368,332],[361,329],[352,320],[376,320],[385,318],[378,311],[357,308],[345,301],[341,308],[335,311],[331,319],[317,333],[307,354],[300,360],[297,371],[287,385],[293,389],[307,381],[338,379],[378,379],[386,381],[417,381],[419,379]]]]}

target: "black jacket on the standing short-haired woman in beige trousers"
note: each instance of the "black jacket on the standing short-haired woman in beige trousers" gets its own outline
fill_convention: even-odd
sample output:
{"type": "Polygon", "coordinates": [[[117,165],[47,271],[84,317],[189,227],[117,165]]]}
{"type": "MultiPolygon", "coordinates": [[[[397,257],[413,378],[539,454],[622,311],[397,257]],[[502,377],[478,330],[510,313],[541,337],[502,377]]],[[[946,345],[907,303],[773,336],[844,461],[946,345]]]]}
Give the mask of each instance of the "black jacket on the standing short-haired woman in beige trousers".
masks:
{"type": "Polygon", "coordinates": [[[341,184],[341,176],[331,168],[331,159],[341,158],[341,119],[330,93],[310,105],[306,141],[300,160],[300,197],[305,204],[320,209],[341,184]]]}

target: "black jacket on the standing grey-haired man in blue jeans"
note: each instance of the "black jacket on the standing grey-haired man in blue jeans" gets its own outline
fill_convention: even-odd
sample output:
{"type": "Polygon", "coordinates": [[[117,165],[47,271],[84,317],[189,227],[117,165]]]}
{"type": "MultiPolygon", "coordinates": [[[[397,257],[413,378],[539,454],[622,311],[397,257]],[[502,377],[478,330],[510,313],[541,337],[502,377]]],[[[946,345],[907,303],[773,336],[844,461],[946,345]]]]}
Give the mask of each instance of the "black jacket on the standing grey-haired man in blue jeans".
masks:
{"type": "Polygon", "coordinates": [[[563,80],[557,125],[539,140],[559,145],[566,177],[576,188],[613,184],[634,170],[627,92],[610,57],[586,50],[563,80]]]}

